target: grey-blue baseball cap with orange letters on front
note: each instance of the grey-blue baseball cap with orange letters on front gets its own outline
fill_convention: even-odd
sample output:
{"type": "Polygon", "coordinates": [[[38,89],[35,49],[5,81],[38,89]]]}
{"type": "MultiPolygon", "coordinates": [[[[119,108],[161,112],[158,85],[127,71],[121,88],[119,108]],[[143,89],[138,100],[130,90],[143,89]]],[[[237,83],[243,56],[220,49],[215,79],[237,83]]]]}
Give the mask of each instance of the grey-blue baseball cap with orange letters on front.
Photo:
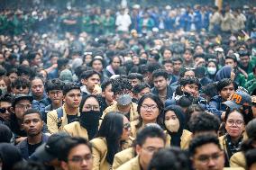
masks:
{"type": "Polygon", "coordinates": [[[230,100],[224,102],[224,104],[232,109],[239,109],[242,106],[251,106],[251,96],[246,92],[237,90],[232,94],[230,100]]]}

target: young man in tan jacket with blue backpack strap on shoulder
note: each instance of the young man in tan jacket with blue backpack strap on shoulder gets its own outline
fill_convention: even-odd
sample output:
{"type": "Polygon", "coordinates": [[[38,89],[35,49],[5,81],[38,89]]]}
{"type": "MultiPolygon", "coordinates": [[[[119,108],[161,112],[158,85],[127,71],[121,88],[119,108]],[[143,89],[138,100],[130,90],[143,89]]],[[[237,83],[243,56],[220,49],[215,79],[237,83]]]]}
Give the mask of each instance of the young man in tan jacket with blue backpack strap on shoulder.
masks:
{"type": "Polygon", "coordinates": [[[47,114],[47,126],[50,133],[62,131],[66,124],[69,124],[80,116],[78,107],[82,95],[79,85],[74,83],[65,84],[63,95],[63,101],[65,103],[62,107],[47,114]]]}

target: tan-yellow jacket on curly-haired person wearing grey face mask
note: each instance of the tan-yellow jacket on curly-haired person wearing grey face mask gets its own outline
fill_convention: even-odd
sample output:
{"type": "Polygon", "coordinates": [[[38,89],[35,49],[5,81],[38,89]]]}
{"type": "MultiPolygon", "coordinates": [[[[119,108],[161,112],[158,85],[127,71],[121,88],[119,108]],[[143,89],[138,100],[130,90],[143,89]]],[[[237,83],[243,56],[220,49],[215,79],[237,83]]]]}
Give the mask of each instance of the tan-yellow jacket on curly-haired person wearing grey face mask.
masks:
{"type": "MultiPolygon", "coordinates": [[[[131,109],[130,109],[130,121],[135,121],[138,120],[139,118],[139,113],[137,112],[137,104],[136,103],[132,103],[131,105],[131,109]]],[[[108,112],[119,112],[118,108],[117,108],[117,103],[112,104],[111,106],[108,106],[105,111],[103,112],[102,115],[102,120],[105,117],[105,114],[107,114],[108,112]]]]}

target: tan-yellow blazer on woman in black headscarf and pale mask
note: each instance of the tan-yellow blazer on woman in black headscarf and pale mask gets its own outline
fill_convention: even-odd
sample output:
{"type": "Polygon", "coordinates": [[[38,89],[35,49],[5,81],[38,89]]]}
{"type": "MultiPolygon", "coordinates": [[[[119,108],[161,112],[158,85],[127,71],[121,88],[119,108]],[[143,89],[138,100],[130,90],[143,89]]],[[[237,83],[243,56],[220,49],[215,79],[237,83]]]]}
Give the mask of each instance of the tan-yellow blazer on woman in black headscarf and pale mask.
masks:
{"type": "MultiPolygon", "coordinates": [[[[171,137],[169,136],[167,131],[166,131],[166,134],[167,134],[166,147],[169,147],[171,137]]],[[[181,149],[187,149],[191,139],[192,139],[192,133],[188,130],[183,130],[182,135],[180,137],[180,148],[181,149]]]]}

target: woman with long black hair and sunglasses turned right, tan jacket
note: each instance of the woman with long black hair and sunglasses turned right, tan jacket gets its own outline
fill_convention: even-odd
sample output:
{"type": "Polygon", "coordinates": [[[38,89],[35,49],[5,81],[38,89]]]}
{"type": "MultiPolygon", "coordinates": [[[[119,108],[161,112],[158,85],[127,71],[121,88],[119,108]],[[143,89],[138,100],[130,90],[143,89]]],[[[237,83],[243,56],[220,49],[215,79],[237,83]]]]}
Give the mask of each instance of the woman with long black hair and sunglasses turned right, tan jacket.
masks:
{"type": "Polygon", "coordinates": [[[131,125],[123,114],[109,112],[98,130],[93,146],[93,169],[108,170],[114,161],[114,155],[125,148],[130,148],[131,125]]]}

